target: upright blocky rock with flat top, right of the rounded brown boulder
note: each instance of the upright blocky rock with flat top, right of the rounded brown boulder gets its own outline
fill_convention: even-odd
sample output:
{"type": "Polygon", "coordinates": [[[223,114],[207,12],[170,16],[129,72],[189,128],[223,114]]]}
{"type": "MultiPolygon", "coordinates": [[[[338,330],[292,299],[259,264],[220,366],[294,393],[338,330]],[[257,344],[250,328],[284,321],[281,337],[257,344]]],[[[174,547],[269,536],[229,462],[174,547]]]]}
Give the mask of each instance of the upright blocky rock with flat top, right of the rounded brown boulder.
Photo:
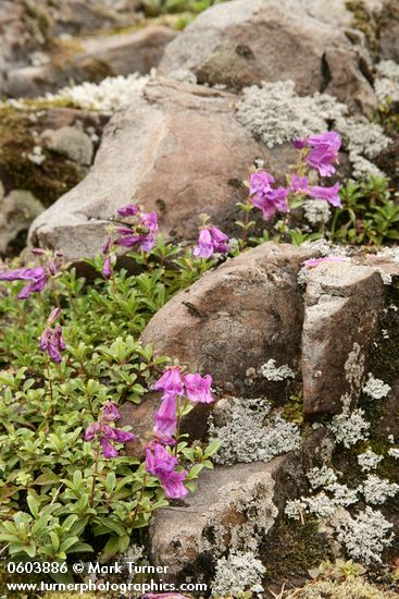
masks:
{"type": "Polygon", "coordinates": [[[364,382],[383,281],[370,267],[326,262],[309,273],[304,302],[303,409],[308,416],[337,414],[364,382]]]}

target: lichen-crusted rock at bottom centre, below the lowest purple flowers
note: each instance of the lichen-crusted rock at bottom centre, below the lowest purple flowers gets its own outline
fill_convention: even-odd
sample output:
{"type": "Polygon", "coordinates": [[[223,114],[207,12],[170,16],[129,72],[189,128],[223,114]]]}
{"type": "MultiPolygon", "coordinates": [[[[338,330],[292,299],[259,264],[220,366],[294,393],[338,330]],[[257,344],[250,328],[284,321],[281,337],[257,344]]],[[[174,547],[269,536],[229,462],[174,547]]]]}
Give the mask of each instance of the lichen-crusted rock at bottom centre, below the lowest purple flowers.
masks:
{"type": "Polygon", "coordinates": [[[306,472],[329,463],[334,443],[325,431],[297,452],[269,463],[252,462],[202,472],[198,489],[182,506],[154,512],[150,555],[167,566],[165,580],[209,583],[215,560],[229,551],[257,551],[282,516],[287,499],[307,488],[306,472]]]}

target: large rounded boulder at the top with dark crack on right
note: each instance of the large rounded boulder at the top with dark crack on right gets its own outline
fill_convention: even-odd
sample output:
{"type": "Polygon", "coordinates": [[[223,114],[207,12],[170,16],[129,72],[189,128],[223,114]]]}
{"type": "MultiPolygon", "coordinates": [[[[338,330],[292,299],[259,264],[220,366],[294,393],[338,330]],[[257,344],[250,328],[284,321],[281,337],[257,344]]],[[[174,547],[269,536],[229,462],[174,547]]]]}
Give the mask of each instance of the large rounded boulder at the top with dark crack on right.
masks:
{"type": "Polygon", "coordinates": [[[202,13],[165,50],[161,74],[190,70],[200,83],[239,89],[292,80],[297,93],[325,90],[348,105],[376,106],[364,77],[370,57],[345,0],[234,0],[202,13]],[[354,40],[354,41],[353,41],[354,40]]]}

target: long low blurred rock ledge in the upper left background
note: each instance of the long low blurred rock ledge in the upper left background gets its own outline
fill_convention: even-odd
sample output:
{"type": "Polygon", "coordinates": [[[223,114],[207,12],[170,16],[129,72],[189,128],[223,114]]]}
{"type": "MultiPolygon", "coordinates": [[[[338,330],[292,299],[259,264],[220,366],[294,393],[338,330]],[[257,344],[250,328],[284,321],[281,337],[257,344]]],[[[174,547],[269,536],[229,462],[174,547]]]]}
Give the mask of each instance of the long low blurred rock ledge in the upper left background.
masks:
{"type": "Polygon", "coordinates": [[[154,26],[127,34],[79,38],[72,52],[71,41],[60,42],[47,57],[46,64],[9,70],[3,93],[11,97],[36,97],[66,86],[71,80],[77,84],[135,72],[145,74],[158,65],[164,47],[175,37],[176,32],[170,27],[154,26]]]}

